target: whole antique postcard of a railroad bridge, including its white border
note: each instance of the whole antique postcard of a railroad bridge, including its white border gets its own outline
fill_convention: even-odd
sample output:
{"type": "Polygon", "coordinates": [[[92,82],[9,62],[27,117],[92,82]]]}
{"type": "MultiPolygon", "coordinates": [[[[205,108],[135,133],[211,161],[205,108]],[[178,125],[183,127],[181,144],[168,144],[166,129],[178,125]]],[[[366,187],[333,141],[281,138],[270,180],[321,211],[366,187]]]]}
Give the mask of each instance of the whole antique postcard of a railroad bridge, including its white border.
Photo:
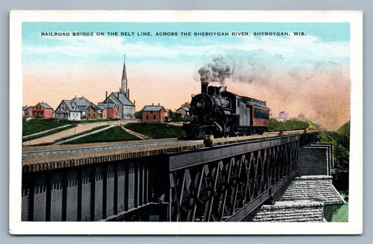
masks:
{"type": "Polygon", "coordinates": [[[362,234],[363,13],[11,11],[9,164],[10,234],[362,234]]]}

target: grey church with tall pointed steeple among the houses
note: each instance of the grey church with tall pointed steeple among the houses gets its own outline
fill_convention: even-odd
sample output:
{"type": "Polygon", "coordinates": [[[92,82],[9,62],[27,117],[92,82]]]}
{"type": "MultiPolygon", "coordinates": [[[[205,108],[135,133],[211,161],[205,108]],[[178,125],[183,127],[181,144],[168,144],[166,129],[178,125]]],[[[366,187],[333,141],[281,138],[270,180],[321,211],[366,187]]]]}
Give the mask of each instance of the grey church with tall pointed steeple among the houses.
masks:
{"type": "MultiPolygon", "coordinates": [[[[125,56],[126,57],[126,56],[125,56]]],[[[111,92],[110,95],[106,92],[105,100],[100,104],[113,104],[118,106],[118,118],[120,120],[133,120],[134,119],[134,103],[129,100],[129,89],[127,86],[127,71],[126,63],[123,62],[122,82],[119,92],[111,92]]]]}

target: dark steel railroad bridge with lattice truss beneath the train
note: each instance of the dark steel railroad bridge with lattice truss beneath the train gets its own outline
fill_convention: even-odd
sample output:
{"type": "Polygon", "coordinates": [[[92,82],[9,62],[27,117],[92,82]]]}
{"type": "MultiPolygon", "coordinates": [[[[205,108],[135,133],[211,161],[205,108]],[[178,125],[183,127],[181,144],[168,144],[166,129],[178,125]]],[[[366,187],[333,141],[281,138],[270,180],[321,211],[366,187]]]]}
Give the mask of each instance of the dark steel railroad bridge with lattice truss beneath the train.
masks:
{"type": "Polygon", "coordinates": [[[316,135],[24,148],[22,221],[241,221],[316,135]]]}

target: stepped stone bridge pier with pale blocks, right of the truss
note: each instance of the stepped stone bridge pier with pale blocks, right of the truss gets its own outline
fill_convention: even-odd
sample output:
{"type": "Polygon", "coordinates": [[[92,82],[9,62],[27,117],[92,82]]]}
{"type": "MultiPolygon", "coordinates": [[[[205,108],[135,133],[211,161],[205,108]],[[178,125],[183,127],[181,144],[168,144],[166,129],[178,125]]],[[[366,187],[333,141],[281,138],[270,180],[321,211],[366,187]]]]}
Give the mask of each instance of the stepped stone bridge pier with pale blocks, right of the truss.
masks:
{"type": "Polygon", "coordinates": [[[274,205],[262,205],[245,221],[326,222],[324,206],[342,205],[332,185],[332,145],[316,143],[300,148],[300,171],[273,195],[274,205]]]}

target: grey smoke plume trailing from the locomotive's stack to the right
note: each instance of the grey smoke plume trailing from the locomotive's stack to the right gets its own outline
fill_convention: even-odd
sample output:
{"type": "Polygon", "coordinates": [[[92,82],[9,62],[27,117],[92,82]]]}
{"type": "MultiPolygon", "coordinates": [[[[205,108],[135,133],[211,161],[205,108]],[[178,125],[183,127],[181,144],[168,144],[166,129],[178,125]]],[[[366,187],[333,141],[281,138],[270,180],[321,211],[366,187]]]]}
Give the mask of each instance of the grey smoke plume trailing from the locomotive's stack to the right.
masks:
{"type": "Polygon", "coordinates": [[[338,129],[349,120],[349,67],[335,62],[287,62],[255,50],[215,57],[198,75],[201,82],[219,82],[228,91],[267,101],[273,117],[279,110],[290,117],[303,113],[324,129],[338,129]]]}

